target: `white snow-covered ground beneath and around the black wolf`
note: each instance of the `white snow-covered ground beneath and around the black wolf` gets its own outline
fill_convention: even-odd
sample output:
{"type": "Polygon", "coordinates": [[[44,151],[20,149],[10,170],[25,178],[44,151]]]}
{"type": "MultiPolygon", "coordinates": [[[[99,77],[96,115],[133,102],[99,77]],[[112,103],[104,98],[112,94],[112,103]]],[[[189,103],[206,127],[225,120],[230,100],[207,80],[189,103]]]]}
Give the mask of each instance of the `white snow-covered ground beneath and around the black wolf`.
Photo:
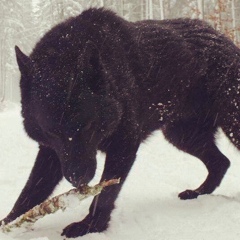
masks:
{"type": "MultiPolygon", "coordinates": [[[[0,110],[0,219],[11,210],[37,154],[22,127],[20,107],[0,110]]],[[[240,239],[240,153],[220,132],[218,145],[231,159],[221,186],[208,196],[181,201],[177,195],[203,182],[202,163],[171,146],[160,131],[143,143],[112,213],[110,227],[81,240],[238,240],[240,239]]],[[[101,173],[104,155],[99,153],[101,173]]],[[[55,194],[70,189],[63,181],[55,194]]],[[[39,220],[33,230],[0,233],[0,240],[60,240],[63,227],[80,221],[91,199],[39,220]]]]}

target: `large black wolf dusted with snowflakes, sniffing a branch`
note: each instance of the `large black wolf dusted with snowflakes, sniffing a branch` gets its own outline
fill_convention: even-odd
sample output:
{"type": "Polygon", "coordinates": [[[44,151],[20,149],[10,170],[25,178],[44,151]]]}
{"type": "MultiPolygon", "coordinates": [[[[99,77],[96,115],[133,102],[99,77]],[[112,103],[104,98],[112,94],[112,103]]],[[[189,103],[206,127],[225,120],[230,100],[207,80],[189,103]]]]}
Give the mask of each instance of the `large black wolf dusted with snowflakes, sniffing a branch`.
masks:
{"type": "Polygon", "coordinates": [[[18,47],[16,54],[24,126],[40,147],[6,223],[45,200],[63,176],[75,187],[87,184],[99,149],[106,152],[102,180],[121,184],[95,198],[63,235],[105,230],[140,143],[156,129],[208,169],[181,199],[212,193],[229,167],[215,145],[218,127],[240,148],[240,51],[205,22],[131,23],[89,9],[50,30],[29,57],[18,47]]]}

